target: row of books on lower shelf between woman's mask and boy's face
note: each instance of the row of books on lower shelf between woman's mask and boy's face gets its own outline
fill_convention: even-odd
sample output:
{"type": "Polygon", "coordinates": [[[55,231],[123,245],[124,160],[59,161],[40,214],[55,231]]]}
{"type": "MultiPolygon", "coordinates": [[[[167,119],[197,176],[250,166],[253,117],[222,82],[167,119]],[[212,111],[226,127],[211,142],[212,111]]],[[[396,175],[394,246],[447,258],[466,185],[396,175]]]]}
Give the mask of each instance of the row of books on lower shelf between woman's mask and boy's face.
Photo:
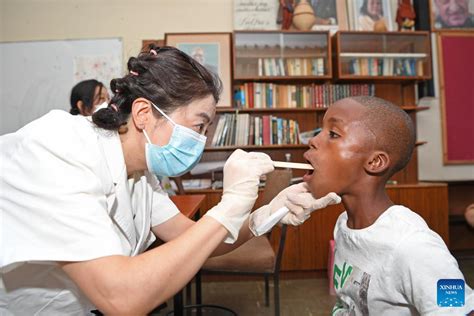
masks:
{"type": "Polygon", "coordinates": [[[298,144],[298,122],[273,115],[226,113],[219,117],[211,146],[298,144]]]}

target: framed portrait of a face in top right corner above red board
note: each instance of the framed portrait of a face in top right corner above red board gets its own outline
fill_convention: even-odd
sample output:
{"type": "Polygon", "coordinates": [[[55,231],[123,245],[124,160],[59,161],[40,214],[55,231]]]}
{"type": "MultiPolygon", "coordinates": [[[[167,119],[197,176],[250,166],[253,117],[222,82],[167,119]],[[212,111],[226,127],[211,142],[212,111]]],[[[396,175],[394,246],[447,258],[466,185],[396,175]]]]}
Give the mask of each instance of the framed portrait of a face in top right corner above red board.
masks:
{"type": "Polygon", "coordinates": [[[430,0],[431,31],[474,31],[474,0],[430,0]]]}

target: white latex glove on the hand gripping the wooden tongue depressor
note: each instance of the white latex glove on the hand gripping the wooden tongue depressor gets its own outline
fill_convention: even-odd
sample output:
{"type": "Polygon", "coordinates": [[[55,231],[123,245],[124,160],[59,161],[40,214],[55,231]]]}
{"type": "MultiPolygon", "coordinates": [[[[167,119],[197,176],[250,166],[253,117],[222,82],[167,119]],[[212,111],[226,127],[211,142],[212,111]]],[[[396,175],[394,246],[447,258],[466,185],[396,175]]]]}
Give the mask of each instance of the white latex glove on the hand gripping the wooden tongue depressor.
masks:
{"type": "Polygon", "coordinates": [[[258,196],[260,176],[273,171],[267,154],[235,150],[224,165],[222,199],[205,215],[229,231],[226,243],[234,243],[258,196]]]}

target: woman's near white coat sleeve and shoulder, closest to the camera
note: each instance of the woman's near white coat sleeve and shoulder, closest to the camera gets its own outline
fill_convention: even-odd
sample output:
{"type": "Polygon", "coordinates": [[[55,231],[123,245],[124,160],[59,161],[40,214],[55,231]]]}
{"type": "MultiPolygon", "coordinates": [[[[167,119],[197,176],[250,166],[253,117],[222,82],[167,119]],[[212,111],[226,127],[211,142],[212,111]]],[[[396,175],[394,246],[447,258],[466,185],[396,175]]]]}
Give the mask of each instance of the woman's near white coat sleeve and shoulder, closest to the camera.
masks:
{"type": "Polygon", "coordinates": [[[110,192],[98,176],[104,165],[97,136],[68,113],[53,112],[0,138],[0,267],[122,252],[107,211],[110,192]]]}

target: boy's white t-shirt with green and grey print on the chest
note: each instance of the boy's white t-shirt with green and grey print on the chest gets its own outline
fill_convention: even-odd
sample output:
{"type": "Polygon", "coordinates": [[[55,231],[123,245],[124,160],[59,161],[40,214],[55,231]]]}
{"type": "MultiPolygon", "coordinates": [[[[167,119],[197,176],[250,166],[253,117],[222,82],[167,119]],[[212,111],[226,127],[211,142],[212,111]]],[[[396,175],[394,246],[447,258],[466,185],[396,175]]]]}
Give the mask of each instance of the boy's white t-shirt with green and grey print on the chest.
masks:
{"type": "Polygon", "coordinates": [[[336,250],[332,315],[466,315],[474,293],[465,284],[464,307],[440,307],[438,280],[462,279],[441,237],[410,209],[394,205],[371,226],[334,228],[336,250]]]}

